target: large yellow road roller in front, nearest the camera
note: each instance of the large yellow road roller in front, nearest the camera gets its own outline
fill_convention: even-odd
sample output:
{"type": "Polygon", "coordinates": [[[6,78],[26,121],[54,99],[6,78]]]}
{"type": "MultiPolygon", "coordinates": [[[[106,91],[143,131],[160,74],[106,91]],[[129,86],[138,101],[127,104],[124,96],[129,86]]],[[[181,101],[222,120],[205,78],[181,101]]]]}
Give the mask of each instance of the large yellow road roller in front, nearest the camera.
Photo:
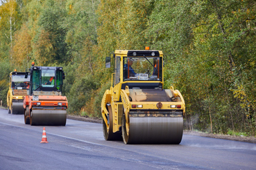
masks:
{"type": "MultiPolygon", "coordinates": [[[[106,67],[110,67],[106,57],[106,67]]],[[[115,50],[112,84],[101,102],[105,140],[179,144],[185,101],[164,86],[161,50],[115,50]]]]}

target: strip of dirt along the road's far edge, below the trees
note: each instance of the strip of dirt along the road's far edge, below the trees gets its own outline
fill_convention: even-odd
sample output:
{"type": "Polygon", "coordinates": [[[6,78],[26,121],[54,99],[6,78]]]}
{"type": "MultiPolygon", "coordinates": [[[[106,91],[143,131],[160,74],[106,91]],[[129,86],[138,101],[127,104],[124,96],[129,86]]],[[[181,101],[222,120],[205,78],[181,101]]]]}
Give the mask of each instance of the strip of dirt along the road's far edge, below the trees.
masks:
{"type": "MultiPolygon", "coordinates": [[[[80,116],[80,115],[67,115],[68,119],[71,120],[79,120],[84,122],[93,122],[93,123],[102,123],[102,118],[98,117],[87,117],[87,116],[80,116]]],[[[249,142],[256,144],[256,138],[253,137],[245,137],[245,136],[236,136],[236,135],[221,135],[221,134],[212,134],[212,133],[203,133],[198,131],[187,131],[184,130],[183,134],[185,135],[198,135],[207,138],[217,138],[223,140],[234,140],[240,142],[249,142]]]]}

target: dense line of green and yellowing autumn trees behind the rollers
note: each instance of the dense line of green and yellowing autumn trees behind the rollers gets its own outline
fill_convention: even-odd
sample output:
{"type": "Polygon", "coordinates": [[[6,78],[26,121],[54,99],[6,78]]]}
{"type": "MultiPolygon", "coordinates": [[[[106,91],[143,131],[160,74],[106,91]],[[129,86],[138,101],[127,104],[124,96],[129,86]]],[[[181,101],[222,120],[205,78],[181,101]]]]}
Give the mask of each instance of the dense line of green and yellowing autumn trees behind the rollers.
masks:
{"type": "Polygon", "coordinates": [[[69,113],[101,116],[115,49],[164,52],[164,88],[186,102],[185,128],[255,136],[254,0],[1,0],[0,99],[8,75],[63,66],[69,113]]]}

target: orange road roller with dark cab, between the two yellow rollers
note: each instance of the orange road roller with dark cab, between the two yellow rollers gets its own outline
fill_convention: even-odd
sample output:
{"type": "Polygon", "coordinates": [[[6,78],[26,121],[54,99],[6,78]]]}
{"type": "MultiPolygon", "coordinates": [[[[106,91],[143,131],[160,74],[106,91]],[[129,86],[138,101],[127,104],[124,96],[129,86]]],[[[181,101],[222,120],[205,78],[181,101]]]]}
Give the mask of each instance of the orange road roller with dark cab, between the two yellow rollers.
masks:
{"type": "Polygon", "coordinates": [[[28,74],[31,85],[24,97],[25,124],[65,126],[68,103],[62,96],[62,67],[32,66],[28,74]]]}

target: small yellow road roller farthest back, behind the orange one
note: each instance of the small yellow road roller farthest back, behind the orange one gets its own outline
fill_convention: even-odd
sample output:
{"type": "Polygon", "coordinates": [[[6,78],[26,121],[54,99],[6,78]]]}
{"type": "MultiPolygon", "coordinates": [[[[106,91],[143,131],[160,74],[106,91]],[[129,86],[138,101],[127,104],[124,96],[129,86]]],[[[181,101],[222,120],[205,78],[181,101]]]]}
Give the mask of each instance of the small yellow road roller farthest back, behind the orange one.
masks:
{"type": "Polygon", "coordinates": [[[25,72],[10,73],[9,90],[7,93],[8,113],[23,114],[23,97],[29,88],[30,75],[25,72]]]}

